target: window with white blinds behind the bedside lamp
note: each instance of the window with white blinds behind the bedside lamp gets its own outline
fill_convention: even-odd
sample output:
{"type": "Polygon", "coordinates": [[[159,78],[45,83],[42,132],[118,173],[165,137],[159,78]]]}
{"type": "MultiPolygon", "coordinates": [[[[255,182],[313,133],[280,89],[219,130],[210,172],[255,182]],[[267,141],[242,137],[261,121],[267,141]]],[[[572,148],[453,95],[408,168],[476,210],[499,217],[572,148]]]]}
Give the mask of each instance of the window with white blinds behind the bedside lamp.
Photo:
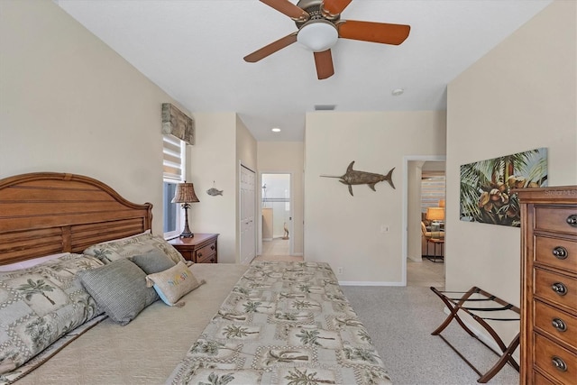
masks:
{"type": "Polygon", "coordinates": [[[165,238],[180,234],[183,221],[179,204],[171,203],[177,184],[184,181],[186,146],[172,135],[162,135],[162,225],[165,238]]]}

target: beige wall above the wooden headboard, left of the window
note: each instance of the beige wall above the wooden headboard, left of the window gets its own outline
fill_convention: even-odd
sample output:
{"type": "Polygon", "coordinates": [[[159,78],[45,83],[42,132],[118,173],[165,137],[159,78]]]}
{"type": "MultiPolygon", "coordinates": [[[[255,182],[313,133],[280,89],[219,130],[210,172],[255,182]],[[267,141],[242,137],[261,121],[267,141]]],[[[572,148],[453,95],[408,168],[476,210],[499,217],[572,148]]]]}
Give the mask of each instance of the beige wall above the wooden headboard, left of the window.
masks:
{"type": "Polygon", "coordinates": [[[71,172],[151,202],[162,232],[162,103],[175,103],[51,1],[0,1],[0,178],[71,172]]]}

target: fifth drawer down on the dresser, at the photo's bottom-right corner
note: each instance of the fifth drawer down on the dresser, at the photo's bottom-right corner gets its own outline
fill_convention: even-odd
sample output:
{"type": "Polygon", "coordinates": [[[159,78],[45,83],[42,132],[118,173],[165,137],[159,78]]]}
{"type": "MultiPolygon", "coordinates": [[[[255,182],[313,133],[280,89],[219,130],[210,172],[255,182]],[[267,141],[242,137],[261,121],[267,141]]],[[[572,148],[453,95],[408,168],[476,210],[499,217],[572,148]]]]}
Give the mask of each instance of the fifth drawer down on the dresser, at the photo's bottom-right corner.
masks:
{"type": "Polygon", "coordinates": [[[544,371],[563,384],[575,383],[577,355],[538,334],[534,334],[534,343],[534,363],[540,371],[544,371]]]}

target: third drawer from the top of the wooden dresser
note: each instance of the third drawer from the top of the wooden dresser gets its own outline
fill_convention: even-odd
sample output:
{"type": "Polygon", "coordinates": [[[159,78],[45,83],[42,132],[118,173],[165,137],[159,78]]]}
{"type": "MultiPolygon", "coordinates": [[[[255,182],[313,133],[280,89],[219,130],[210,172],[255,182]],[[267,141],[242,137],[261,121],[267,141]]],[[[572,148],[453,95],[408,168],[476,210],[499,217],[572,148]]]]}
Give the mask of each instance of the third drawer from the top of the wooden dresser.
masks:
{"type": "Polygon", "coordinates": [[[574,308],[577,304],[577,280],[551,271],[535,269],[535,295],[552,304],[567,309],[574,308]]]}

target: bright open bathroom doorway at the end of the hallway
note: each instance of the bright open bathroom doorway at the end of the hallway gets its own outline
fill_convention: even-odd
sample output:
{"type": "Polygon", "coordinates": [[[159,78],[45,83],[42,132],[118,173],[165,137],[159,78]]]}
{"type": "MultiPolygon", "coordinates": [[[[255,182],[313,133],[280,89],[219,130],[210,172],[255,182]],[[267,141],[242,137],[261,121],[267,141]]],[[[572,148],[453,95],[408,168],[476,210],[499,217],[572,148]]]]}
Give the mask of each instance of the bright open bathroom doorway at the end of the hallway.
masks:
{"type": "Polygon", "coordinates": [[[261,173],[261,255],[292,255],[290,173],[261,173]]]}

